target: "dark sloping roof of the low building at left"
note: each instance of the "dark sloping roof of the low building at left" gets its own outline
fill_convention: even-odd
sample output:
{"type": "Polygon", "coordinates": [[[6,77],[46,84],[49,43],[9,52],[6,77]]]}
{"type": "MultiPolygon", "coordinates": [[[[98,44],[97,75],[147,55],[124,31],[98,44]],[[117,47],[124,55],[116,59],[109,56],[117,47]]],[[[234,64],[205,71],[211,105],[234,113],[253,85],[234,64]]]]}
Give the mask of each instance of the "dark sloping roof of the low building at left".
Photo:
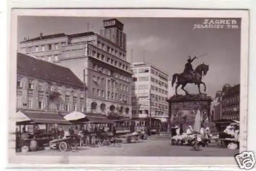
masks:
{"type": "MultiPolygon", "coordinates": [[[[81,71],[82,72],[82,71],[81,71]]],[[[83,82],[66,67],[17,52],[17,74],[83,89],[83,82]]]]}

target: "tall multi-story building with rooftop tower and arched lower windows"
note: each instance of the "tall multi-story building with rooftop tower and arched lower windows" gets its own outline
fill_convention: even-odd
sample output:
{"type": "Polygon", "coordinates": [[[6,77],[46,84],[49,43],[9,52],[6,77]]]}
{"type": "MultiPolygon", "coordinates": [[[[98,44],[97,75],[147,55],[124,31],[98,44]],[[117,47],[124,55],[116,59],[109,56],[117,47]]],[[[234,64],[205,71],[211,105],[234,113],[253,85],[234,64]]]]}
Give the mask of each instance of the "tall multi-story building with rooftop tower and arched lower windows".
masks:
{"type": "Polygon", "coordinates": [[[126,34],[117,19],[103,21],[100,34],[42,35],[20,42],[24,53],[70,68],[87,90],[87,112],[131,116],[130,63],[126,61],[126,34]],[[85,74],[83,74],[85,70],[85,74]]]}

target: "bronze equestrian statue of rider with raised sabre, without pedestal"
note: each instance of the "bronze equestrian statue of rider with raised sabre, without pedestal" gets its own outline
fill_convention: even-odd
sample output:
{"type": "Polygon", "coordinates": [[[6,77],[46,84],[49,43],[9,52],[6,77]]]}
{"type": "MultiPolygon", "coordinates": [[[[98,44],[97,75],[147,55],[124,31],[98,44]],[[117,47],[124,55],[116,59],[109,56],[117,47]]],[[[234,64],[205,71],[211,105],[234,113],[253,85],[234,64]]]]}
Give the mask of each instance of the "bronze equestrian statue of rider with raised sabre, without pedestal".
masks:
{"type": "Polygon", "coordinates": [[[198,57],[194,57],[191,59],[190,56],[188,56],[187,63],[185,65],[184,72],[181,74],[175,73],[173,75],[173,80],[172,80],[172,87],[174,87],[174,83],[176,82],[176,87],[175,87],[175,94],[177,94],[177,89],[181,85],[181,90],[183,90],[186,95],[189,93],[184,89],[187,83],[194,83],[195,85],[198,86],[198,91],[199,94],[201,94],[200,90],[200,85],[204,85],[204,92],[206,92],[206,86],[205,83],[202,81],[202,77],[205,76],[209,70],[209,65],[206,65],[204,63],[200,64],[195,70],[193,70],[192,62],[197,59],[198,57]]]}

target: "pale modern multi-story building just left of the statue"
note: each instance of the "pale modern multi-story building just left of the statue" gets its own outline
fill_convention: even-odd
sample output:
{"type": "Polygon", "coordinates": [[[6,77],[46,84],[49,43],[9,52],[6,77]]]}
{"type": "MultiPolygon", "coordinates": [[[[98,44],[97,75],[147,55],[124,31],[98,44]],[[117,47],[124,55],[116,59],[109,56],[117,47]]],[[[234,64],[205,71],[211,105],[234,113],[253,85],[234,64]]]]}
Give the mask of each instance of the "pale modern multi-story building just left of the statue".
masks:
{"type": "Polygon", "coordinates": [[[149,117],[166,122],[168,118],[168,74],[145,62],[132,64],[133,117],[149,117]],[[150,97],[151,95],[151,97],[150,97]]]}

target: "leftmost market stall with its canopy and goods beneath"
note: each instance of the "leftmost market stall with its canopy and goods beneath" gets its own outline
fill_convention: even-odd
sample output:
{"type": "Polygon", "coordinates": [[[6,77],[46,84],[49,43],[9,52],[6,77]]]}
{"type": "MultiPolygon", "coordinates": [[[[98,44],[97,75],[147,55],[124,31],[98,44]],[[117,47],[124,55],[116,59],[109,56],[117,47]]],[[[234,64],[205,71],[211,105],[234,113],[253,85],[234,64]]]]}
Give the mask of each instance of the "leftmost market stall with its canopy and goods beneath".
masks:
{"type": "Polygon", "coordinates": [[[50,127],[54,124],[72,124],[59,114],[38,111],[18,111],[16,118],[16,149],[26,146],[30,151],[43,149],[53,139],[50,127]]]}

